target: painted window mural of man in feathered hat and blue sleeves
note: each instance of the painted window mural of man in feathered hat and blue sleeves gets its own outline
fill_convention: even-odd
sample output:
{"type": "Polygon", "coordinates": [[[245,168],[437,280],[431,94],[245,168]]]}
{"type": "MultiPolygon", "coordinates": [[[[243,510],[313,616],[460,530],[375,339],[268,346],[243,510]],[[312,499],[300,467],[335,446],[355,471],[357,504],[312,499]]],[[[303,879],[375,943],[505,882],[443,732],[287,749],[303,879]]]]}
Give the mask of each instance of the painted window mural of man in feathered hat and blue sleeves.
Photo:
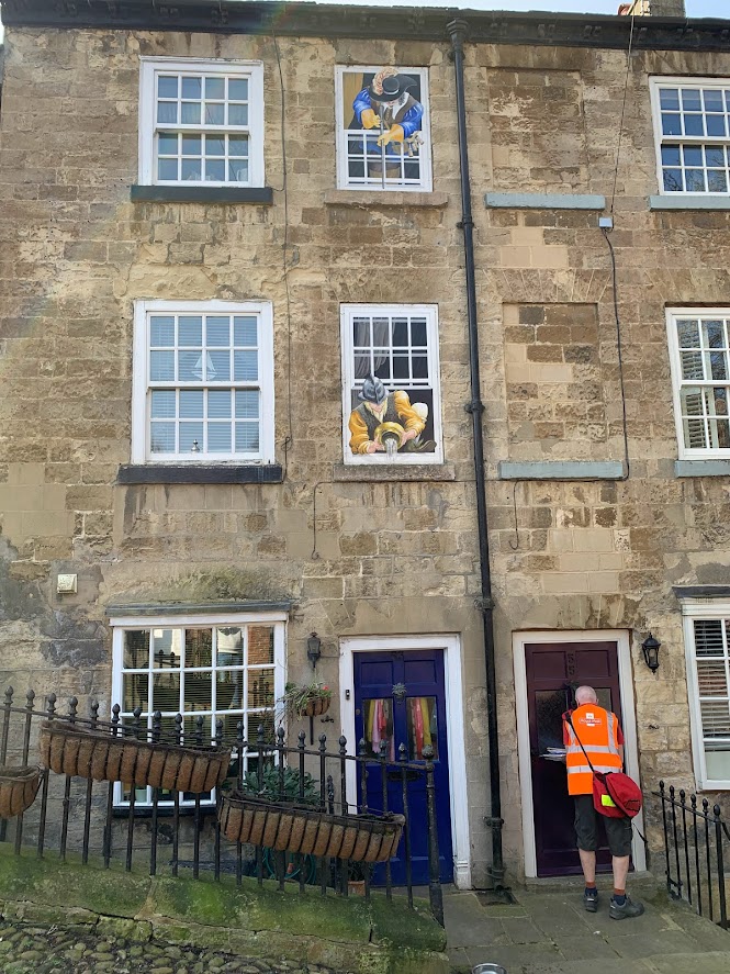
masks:
{"type": "Polygon", "coordinates": [[[425,68],[337,69],[338,184],[430,190],[425,68]]]}

